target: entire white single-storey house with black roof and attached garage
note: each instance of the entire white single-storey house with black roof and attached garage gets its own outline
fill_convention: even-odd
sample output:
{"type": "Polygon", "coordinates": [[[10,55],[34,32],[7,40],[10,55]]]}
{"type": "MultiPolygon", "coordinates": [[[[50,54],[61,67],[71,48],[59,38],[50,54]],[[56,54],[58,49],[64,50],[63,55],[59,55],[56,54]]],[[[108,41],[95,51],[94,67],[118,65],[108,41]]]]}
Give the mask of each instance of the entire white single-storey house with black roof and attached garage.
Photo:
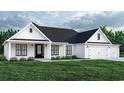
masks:
{"type": "Polygon", "coordinates": [[[76,32],[30,23],[4,43],[4,56],[44,58],[76,55],[79,58],[118,58],[119,45],[112,44],[101,29],[76,32]]]}

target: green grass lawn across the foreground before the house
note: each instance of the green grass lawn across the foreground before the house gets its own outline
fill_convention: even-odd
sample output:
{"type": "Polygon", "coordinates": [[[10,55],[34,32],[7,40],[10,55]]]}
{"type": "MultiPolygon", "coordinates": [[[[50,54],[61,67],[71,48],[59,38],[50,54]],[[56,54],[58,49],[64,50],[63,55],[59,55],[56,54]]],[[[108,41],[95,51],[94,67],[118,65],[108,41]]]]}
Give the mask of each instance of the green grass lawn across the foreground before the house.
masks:
{"type": "Polygon", "coordinates": [[[0,80],[124,80],[124,62],[0,62],[0,80]]]}

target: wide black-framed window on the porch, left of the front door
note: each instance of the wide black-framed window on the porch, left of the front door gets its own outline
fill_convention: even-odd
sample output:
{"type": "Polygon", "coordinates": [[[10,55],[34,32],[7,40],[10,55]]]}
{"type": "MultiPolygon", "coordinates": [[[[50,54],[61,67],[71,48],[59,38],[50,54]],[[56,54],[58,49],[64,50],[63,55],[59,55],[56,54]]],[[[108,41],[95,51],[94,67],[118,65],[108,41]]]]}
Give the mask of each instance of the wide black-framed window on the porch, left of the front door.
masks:
{"type": "Polygon", "coordinates": [[[16,44],[16,56],[27,56],[26,44],[16,44]]]}

